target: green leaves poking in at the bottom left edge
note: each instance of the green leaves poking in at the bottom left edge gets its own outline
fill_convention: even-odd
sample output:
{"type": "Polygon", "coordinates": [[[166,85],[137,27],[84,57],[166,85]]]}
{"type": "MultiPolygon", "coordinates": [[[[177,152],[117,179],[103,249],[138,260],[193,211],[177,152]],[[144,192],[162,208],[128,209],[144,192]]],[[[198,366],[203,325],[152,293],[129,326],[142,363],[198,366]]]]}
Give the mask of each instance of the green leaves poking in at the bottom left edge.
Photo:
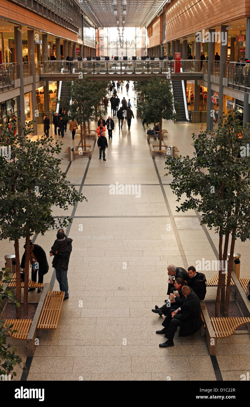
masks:
{"type": "MultiPolygon", "coordinates": [[[[0,271],[0,314],[3,311],[2,302],[3,300],[10,301],[11,304],[17,305],[20,307],[20,302],[18,302],[13,296],[12,292],[8,289],[3,288],[4,283],[8,283],[10,280],[10,276],[7,272],[8,269],[2,269],[0,271]]],[[[12,326],[7,324],[5,328],[3,328],[5,320],[0,318],[0,375],[7,374],[11,375],[11,379],[13,376],[16,376],[16,372],[14,372],[14,368],[16,365],[19,365],[26,371],[25,363],[22,362],[22,359],[16,354],[16,348],[11,348],[11,344],[7,344],[7,337],[9,337],[8,331],[16,332],[12,330],[12,326]]]]}

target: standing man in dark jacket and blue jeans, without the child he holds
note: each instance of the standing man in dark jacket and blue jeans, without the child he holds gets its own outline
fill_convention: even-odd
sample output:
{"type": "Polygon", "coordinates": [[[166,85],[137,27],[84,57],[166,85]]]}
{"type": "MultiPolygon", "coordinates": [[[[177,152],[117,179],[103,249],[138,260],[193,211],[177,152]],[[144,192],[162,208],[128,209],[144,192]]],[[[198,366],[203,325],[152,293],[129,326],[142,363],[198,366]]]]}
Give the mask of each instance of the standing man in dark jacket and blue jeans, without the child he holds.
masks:
{"type": "MultiPolygon", "coordinates": [[[[57,232],[57,239],[67,239],[64,231],[59,230],[57,232]]],[[[53,246],[51,247],[50,256],[54,256],[52,266],[55,268],[55,275],[57,281],[59,282],[60,291],[64,291],[64,301],[68,300],[68,263],[70,261],[70,254],[72,252],[72,239],[68,240],[68,251],[58,253],[57,251],[55,254],[53,253],[53,249],[55,246],[56,241],[54,242],[53,246]]]]}

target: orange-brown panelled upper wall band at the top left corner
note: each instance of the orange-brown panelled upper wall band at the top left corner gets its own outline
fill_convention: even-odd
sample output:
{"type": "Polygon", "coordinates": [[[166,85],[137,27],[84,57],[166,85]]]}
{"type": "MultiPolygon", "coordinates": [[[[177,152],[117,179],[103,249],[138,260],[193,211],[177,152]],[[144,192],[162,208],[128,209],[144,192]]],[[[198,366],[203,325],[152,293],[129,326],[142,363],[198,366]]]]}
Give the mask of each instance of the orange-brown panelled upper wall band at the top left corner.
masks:
{"type": "Polygon", "coordinates": [[[0,17],[51,33],[57,37],[66,38],[70,41],[77,42],[78,40],[76,33],[8,0],[1,0],[0,17]]]}

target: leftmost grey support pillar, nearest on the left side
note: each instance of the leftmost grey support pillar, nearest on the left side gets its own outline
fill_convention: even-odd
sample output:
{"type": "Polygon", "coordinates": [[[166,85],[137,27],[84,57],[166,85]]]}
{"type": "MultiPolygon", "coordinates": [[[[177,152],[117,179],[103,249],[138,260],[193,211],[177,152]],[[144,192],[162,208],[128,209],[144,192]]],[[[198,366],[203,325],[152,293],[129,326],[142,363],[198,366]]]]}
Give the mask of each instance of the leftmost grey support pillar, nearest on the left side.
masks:
{"type": "Polygon", "coordinates": [[[20,65],[20,119],[24,126],[25,124],[25,114],[24,114],[24,70],[22,61],[22,34],[18,31],[18,27],[14,27],[14,39],[15,39],[15,62],[20,65]]]}

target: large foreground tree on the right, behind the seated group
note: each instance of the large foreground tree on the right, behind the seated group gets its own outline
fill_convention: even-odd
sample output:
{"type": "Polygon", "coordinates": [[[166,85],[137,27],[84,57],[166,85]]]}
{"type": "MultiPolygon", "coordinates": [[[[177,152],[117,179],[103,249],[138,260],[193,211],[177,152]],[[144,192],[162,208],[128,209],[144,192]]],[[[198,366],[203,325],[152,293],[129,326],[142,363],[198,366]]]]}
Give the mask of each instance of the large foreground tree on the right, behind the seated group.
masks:
{"type": "Polygon", "coordinates": [[[250,238],[249,135],[250,125],[242,129],[237,112],[233,112],[223,116],[212,135],[201,131],[197,138],[193,134],[197,151],[194,157],[168,157],[166,162],[168,172],[173,175],[171,189],[177,201],[184,194],[187,197],[177,212],[196,209],[201,215],[201,224],[219,233],[216,316],[219,316],[219,305],[221,315],[228,316],[235,241],[250,238]]]}

